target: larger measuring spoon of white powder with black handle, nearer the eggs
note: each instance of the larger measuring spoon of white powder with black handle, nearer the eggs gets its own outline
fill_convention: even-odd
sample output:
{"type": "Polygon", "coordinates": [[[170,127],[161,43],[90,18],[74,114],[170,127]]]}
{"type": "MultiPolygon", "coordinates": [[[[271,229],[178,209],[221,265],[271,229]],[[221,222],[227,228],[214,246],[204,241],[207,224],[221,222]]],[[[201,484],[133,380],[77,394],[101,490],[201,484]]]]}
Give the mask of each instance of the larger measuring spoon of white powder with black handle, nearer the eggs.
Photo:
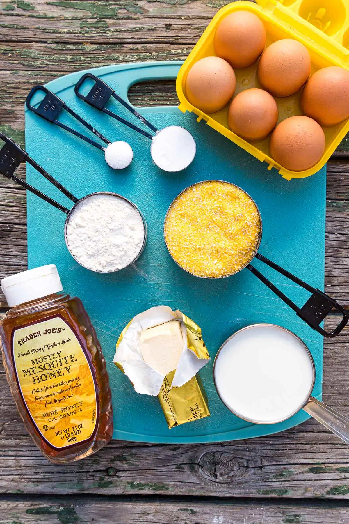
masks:
{"type": "MultiPolygon", "coordinates": [[[[92,107],[95,107],[99,111],[103,111],[107,115],[115,118],[117,121],[125,124],[134,131],[137,131],[141,135],[150,138],[152,141],[150,146],[151,157],[157,167],[163,169],[164,171],[182,171],[192,163],[196,154],[196,144],[193,136],[180,126],[167,126],[163,129],[157,129],[153,124],[151,124],[147,118],[144,118],[134,107],[132,107],[128,102],[123,100],[113,89],[110,88],[103,80],[96,77],[92,73],[85,73],[82,75],[81,79],[75,85],[75,94],[84,102],[92,107]],[[80,93],[79,89],[85,80],[93,80],[94,85],[92,89],[83,95],[80,93]],[[117,115],[109,111],[105,105],[113,96],[123,107],[126,107],[130,113],[136,116],[144,125],[146,125],[155,135],[144,131],[140,127],[132,124],[117,115]]],[[[107,155],[107,153],[106,153],[107,155]]]]}

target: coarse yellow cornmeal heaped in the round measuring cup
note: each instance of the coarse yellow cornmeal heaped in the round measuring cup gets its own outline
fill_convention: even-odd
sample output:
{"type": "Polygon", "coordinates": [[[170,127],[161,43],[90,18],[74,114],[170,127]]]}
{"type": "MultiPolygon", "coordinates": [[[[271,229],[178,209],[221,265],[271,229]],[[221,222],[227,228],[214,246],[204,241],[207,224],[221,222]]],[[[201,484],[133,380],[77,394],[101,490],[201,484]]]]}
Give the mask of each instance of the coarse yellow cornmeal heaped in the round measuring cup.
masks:
{"type": "Polygon", "coordinates": [[[239,271],[261,234],[253,200],[229,182],[209,180],[178,195],[165,221],[165,242],[177,264],[198,277],[239,271]]]}

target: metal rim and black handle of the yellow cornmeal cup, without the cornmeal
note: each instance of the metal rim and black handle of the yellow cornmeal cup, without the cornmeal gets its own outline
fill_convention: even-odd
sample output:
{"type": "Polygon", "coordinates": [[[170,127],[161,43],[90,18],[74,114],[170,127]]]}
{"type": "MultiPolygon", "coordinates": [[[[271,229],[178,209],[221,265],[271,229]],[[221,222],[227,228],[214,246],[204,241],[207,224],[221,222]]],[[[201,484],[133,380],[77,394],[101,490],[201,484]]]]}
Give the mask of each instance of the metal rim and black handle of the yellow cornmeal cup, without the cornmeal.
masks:
{"type": "Polygon", "coordinates": [[[349,320],[349,312],[346,311],[342,307],[342,305],[339,304],[332,297],[330,297],[329,295],[323,293],[319,289],[313,288],[312,286],[310,286],[306,282],[303,282],[302,280],[297,278],[295,275],[292,275],[286,269],[284,269],[284,268],[278,266],[277,264],[275,264],[272,260],[269,260],[268,258],[266,258],[263,255],[261,255],[260,253],[258,253],[258,248],[260,247],[261,240],[262,240],[262,216],[261,216],[261,212],[258,209],[258,206],[255,203],[255,201],[253,200],[253,198],[249,195],[249,193],[247,193],[246,191],[241,189],[236,184],[233,184],[233,183],[227,182],[227,181],[223,181],[223,180],[203,180],[201,182],[196,182],[195,184],[192,184],[189,187],[187,187],[186,189],[184,189],[181,193],[179,193],[176,196],[176,198],[170,204],[170,206],[169,206],[169,208],[168,208],[168,210],[166,212],[165,220],[164,220],[164,239],[165,239],[165,244],[166,244],[168,253],[172,257],[172,259],[175,261],[175,263],[179,267],[184,269],[184,271],[186,271],[187,273],[189,273],[190,275],[193,275],[195,277],[198,277],[198,278],[227,278],[227,277],[231,277],[232,275],[237,274],[239,271],[241,271],[244,268],[249,269],[253,273],[253,275],[255,275],[258,279],[260,279],[281,300],[283,300],[292,310],[294,310],[296,312],[297,316],[299,316],[300,319],[302,319],[312,329],[316,330],[318,333],[320,333],[321,335],[323,335],[325,337],[334,337],[334,336],[338,335],[342,331],[342,329],[344,328],[344,326],[347,324],[347,322],[349,320]],[[174,205],[174,203],[177,201],[177,199],[183,193],[185,193],[185,191],[187,191],[188,189],[190,189],[192,187],[195,187],[196,185],[199,185],[199,184],[205,184],[206,182],[222,182],[224,184],[231,184],[233,187],[240,189],[254,203],[255,209],[256,209],[256,211],[258,213],[258,216],[259,216],[259,219],[260,219],[260,234],[259,234],[258,242],[257,242],[256,247],[254,249],[254,252],[251,254],[250,260],[248,260],[247,263],[244,266],[240,267],[236,271],[234,271],[232,273],[229,273],[227,275],[220,276],[220,277],[203,277],[203,276],[195,275],[195,273],[192,273],[192,272],[188,271],[187,269],[183,268],[180,264],[178,264],[177,260],[172,256],[170,248],[167,245],[166,235],[165,235],[165,226],[166,226],[167,215],[170,212],[170,210],[171,210],[172,206],[174,205]],[[301,308],[299,308],[282,291],[280,291],[271,281],[269,281],[264,275],[262,275],[262,273],[260,271],[258,271],[254,266],[251,265],[251,261],[254,258],[258,258],[259,260],[261,260],[267,266],[271,267],[272,269],[275,269],[278,273],[284,275],[286,278],[288,278],[292,282],[295,282],[298,286],[300,286],[303,289],[306,289],[307,291],[312,293],[310,298],[307,300],[307,302],[305,304],[303,304],[303,306],[301,308]],[[342,320],[341,320],[341,322],[336,326],[336,328],[332,332],[328,332],[328,331],[325,331],[324,329],[322,329],[320,327],[320,324],[325,319],[325,317],[330,313],[332,308],[336,309],[337,311],[339,311],[342,314],[342,320]]]}

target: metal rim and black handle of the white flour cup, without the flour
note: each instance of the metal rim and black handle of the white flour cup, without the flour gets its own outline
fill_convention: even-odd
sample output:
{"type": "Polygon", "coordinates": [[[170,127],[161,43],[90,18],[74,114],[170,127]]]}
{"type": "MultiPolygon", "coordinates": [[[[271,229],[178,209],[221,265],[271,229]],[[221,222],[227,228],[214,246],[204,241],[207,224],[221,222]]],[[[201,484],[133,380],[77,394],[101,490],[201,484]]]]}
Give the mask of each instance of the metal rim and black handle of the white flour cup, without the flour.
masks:
{"type": "MultiPolygon", "coordinates": [[[[141,211],[138,209],[136,204],[134,204],[133,202],[131,202],[130,200],[125,198],[125,196],[119,195],[117,193],[111,193],[111,192],[108,192],[108,191],[97,191],[95,193],[88,194],[88,195],[84,196],[81,199],[77,199],[76,196],[74,196],[70,191],[68,191],[66,188],[64,188],[64,186],[60,182],[58,182],[58,180],[55,180],[47,171],[45,171],[41,166],[39,166],[39,164],[35,160],[30,158],[28,153],[26,151],[24,151],[24,149],[22,149],[12,139],[7,137],[3,133],[0,133],[0,139],[2,139],[4,141],[4,143],[5,143],[3,148],[0,150],[0,173],[3,174],[8,179],[12,179],[14,182],[18,183],[19,185],[21,185],[21,187],[27,189],[31,193],[36,194],[37,196],[39,196],[39,198],[41,198],[45,202],[48,202],[54,208],[62,211],[63,213],[66,213],[67,216],[66,216],[66,219],[65,219],[65,222],[64,222],[64,240],[65,240],[65,245],[66,245],[67,249],[69,250],[69,253],[71,254],[71,256],[74,258],[74,260],[76,260],[76,262],[78,264],[80,264],[83,267],[86,267],[83,264],[81,264],[81,262],[76,258],[74,253],[72,253],[72,249],[70,248],[69,242],[67,240],[66,228],[67,228],[67,224],[69,223],[69,220],[70,220],[73,212],[76,210],[76,207],[81,202],[85,201],[86,199],[88,200],[89,198],[91,198],[94,195],[116,196],[117,198],[122,199],[123,201],[127,202],[128,204],[130,204],[132,206],[132,208],[134,210],[136,210],[138,212],[138,214],[140,215],[140,217],[142,219],[143,227],[144,227],[143,243],[142,243],[142,245],[140,247],[140,250],[139,250],[138,254],[134,257],[134,259],[132,261],[130,261],[130,263],[127,264],[127,266],[122,267],[120,269],[125,269],[126,267],[129,267],[134,262],[136,262],[136,260],[143,253],[144,247],[147,244],[147,237],[148,237],[147,223],[145,222],[144,216],[141,213],[141,211]],[[28,163],[30,163],[30,165],[33,168],[35,168],[40,174],[42,174],[43,177],[45,177],[49,182],[51,182],[57,189],[59,189],[65,196],[67,196],[67,198],[69,198],[72,202],[74,202],[73,207],[70,210],[67,209],[64,205],[59,204],[55,200],[51,199],[50,196],[47,196],[46,194],[42,193],[38,189],[32,187],[32,185],[28,184],[24,180],[21,180],[20,178],[18,178],[14,174],[14,172],[16,171],[16,169],[18,168],[20,163],[23,162],[23,161],[27,161],[28,163]]],[[[90,268],[86,267],[86,269],[90,269],[90,268]]],[[[98,271],[98,270],[96,271],[94,269],[91,269],[91,270],[95,271],[95,272],[98,272],[98,273],[115,272],[114,270],[113,271],[98,271]]]]}

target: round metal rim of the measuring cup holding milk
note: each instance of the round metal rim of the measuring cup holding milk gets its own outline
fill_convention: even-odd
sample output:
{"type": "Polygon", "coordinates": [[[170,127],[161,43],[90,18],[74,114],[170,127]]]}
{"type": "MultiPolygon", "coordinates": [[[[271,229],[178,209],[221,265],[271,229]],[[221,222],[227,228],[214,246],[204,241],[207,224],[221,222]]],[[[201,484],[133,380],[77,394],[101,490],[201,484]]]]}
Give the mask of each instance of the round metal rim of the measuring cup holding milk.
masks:
{"type": "Polygon", "coordinates": [[[213,367],[212,367],[212,378],[213,378],[213,384],[215,385],[215,388],[216,388],[216,391],[217,391],[217,395],[218,397],[220,398],[220,400],[222,401],[222,403],[224,404],[224,406],[226,406],[227,409],[229,409],[229,411],[231,413],[233,413],[235,416],[239,417],[240,419],[242,420],[245,420],[246,422],[250,422],[251,424],[263,424],[263,425],[266,425],[266,424],[277,424],[278,422],[284,422],[285,420],[288,420],[289,418],[293,417],[296,413],[298,413],[298,411],[300,409],[302,409],[304,406],[306,406],[306,404],[308,403],[310,397],[311,397],[311,392],[313,390],[313,387],[314,387],[314,384],[315,384],[315,379],[316,379],[316,369],[315,369],[315,363],[314,363],[314,359],[312,357],[312,354],[310,353],[310,350],[309,350],[309,347],[305,344],[305,342],[298,336],[296,335],[296,333],[294,333],[293,331],[290,331],[289,329],[287,328],[283,328],[283,326],[278,326],[277,324],[269,324],[268,322],[260,322],[260,323],[256,323],[256,324],[249,324],[247,326],[245,326],[244,328],[241,328],[239,329],[238,331],[235,331],[235,333],[233,333],[232,335],[230,335],[230,337],[223,342],[223,344],[220,346],[219,350],[217,351],[216,353],[216,356],[215,356],[215,360],[213,361],[213,367]],[[273,421],[267,421],[267,422],[257,422],[255,420],[251,420],[251,419],[247,419],[245,417],[243,417],[240,413],[238,413],[237,411],[234,411],[233,409],[231,409],[226,402],[224,402],[224,400],[222,399],[221,395],[219,394],[219,391],[218,391],[218,388],[217,388],[217,385],[216,385],[216,378],[215,378],[215,368],[216,368],[216,363],[217,363],[217,358],[218,358],[218,355],[220,354],[221,350],[223,349],[224,346],[226,346],[228,344],[228,342],[230,342],[231,339],[233,339],[233,337],[235,335],[238,335],[239,333],[241,333],[242,331],[247,331],[249,329],[253,329],[253,328],[259,328],[261,326],[267,326],[268,328],[277,328],[279,330],[283,330],[283,331],[286,331],[287,333],[289,333],[290,335],[294,336],[296,339],[298,339],[298,341],[302,344],[302,346],[305,348],[305,350],[307,351],[308,355],[309,355],[309,358],[310,358],[310,363],[311,363],[311,367],[312,367],[312,372],[313,372],[313,379],[312,379],[312,384],[311,384],[311,387],[309,388],[309,392],[308,392],[308,395],[307,395],[307,398],[306,400],[302,403],[301,406],[299,406],[294,412],[292,412],[291,414],[289,414],[287,417],[283,418],[283,419],[277,419],[277,420],[273,420],[273,421]]]}

